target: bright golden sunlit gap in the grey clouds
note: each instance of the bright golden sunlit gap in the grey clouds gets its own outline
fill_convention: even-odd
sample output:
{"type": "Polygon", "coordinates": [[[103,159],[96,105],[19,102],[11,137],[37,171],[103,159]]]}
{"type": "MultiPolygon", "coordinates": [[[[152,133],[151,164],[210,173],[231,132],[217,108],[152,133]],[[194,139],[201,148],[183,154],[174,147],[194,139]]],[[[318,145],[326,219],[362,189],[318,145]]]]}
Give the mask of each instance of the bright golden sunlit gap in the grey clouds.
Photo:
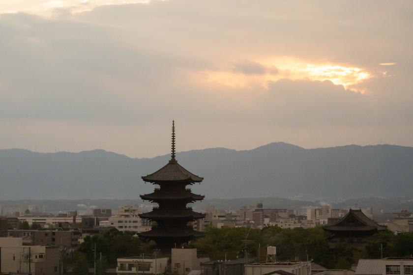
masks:
{"type": "Polygon", "coordinates": [[[254,64],[261,65],[261,73],[248,74],[234,70],[233,67],[220,71],[202,71],[196,73],[197,82],[212,85],[224,85],[231,88],[250,88],[256,85],[266,87],[270,81],[288,78],[291,80],[331,81],[345,88],[357,89],[354,85],[372,77],[371,73],[354,66],[329,63],[307,63],[292,58],[276,58],[274,60],[259,60],[254,64]]]}

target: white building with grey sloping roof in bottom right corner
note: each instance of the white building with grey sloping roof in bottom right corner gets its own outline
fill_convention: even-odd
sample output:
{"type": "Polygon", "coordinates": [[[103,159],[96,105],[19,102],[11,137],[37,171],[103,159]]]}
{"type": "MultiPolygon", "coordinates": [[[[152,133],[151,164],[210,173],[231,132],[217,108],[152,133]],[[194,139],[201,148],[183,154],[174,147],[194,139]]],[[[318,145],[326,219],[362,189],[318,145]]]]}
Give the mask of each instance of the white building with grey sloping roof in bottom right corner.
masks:
{"type": "Polygon", "coordinates": [[[361,259],[355,275],[413,275],[413,258],[361,259]]]}

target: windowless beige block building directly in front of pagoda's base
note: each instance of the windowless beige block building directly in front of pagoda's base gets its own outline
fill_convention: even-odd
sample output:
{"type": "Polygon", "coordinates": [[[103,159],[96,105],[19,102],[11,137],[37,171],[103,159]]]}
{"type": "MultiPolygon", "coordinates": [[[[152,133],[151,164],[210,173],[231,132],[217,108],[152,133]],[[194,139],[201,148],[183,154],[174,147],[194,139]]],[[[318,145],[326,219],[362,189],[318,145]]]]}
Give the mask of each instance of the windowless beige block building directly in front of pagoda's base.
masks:
{"type": "Polygon", "coordinates": [[[196,248],[172,248],[171,272],[177,275],[187,275],[193,270],[201,270],[201,264],[209,258],[198,258],[196,248]]]}

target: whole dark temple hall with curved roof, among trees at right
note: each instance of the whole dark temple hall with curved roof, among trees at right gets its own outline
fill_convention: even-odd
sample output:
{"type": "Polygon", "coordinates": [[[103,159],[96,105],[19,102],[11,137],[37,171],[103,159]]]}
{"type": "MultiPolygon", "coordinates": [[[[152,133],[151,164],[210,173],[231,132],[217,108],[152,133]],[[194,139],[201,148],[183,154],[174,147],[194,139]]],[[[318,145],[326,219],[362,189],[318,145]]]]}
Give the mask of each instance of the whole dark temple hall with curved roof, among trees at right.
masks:
{"type": "Polygon", "coordinates": [[[333,224],[323,226],[331,233],[331,242],[346,241],[350,243],[363,243],[374,233],[387,228],[370,220],[361,210],[352,210],[333,224]]]}

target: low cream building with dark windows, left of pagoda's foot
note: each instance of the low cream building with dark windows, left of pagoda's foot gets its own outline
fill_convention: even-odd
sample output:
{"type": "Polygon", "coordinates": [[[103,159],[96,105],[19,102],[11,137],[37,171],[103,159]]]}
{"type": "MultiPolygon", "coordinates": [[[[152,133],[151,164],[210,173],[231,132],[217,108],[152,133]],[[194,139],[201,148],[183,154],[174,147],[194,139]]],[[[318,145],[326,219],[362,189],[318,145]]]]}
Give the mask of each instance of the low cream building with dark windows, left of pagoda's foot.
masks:
{"type": "Polygon", "coordinates": [[[165,274],[169,258],[126,257],[118,258],[117,275],[165,274]]]}

